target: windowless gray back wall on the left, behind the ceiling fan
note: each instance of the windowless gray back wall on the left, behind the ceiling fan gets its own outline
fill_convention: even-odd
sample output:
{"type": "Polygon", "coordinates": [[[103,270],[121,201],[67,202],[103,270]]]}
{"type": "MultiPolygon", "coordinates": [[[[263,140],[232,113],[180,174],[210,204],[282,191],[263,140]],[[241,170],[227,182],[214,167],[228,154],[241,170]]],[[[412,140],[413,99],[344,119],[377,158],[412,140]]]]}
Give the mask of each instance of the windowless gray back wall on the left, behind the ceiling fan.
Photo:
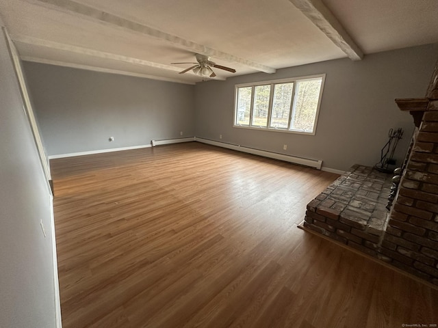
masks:
{"type": "Polygon", "coordinates": [[[49,155],[194,136],[194,86],[24,62],[49,155]],[[108,139],[114,137],[114,141],[108,139]]]}

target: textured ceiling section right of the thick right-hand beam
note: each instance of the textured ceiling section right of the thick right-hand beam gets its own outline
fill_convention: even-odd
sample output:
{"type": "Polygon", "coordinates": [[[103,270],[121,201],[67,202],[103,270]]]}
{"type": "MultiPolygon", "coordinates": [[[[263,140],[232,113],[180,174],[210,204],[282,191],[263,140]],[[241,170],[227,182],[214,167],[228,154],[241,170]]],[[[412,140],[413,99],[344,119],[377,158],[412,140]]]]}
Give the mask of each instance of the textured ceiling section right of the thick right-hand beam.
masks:
{"type": "Polygon", "coordinates": [[[324,0],[364,53],[438,42],[437,0],[324,0]]]}

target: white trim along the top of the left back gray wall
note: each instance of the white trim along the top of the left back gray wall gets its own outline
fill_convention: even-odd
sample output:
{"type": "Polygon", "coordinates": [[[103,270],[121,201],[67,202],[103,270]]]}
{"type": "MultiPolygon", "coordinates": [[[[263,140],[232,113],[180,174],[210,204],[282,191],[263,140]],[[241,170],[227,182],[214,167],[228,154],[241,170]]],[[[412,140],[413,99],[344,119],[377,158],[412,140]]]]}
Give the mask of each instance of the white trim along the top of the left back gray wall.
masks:
{"type": "Polygon", "coordinates": [[[31,57],[31,56],[21,56],[21,60],[33,61],[34,63],[41,63],[41,64],[49,64],[49,65],[64,66],[64,67],[70,67],[70,68],[78,68],[80,70],[92,70],[94,72],[127,75],[129,77],[141,77],[141,78],[144,78],[144,79],[153,79],[153,80],[159,80],[159,81],[184,83],[184,84],[190,84],[190,85],[194,85],[195,84],[194,82],[188,82],[188,81],[179,80],[179,79],[170,79],[170,78],[167,78],[167,77],[157,77],[155,75],[149,75],[149,74],[140,74],[140,73],[134,73],[134,72],[127,72],[126,70],[113,70],[111,68],[101,68],[101,67],[96,67],[96,66],[88,66],[88,65],[82,65],[82,64],[73,64],[73,63],[68,63],[66,61],[42,59],[42,58],[31,57]]]}

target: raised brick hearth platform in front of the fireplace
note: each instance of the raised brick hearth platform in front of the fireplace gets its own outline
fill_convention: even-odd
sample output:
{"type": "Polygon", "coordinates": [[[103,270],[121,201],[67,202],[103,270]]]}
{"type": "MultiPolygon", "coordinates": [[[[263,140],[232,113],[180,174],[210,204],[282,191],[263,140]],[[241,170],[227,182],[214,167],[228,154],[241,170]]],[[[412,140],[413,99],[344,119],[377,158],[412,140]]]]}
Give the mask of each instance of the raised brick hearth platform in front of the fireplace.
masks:
{"type": "Polygon", "coordinates": [[[304,226],[376,256],[387,225],[391,177],[353,165],[307,205],[304,226]]]}

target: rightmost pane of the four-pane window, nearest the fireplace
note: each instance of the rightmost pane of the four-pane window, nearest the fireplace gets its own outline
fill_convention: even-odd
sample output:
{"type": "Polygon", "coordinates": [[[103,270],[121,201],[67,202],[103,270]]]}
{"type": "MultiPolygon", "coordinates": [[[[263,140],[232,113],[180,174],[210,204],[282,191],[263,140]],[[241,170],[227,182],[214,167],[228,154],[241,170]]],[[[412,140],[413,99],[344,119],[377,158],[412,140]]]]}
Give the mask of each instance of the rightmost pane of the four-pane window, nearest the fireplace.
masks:
{"type": "Polygon", "coordinates": [[[291,130],[313,131],[322,79],[298,81],[291,130]]]}

